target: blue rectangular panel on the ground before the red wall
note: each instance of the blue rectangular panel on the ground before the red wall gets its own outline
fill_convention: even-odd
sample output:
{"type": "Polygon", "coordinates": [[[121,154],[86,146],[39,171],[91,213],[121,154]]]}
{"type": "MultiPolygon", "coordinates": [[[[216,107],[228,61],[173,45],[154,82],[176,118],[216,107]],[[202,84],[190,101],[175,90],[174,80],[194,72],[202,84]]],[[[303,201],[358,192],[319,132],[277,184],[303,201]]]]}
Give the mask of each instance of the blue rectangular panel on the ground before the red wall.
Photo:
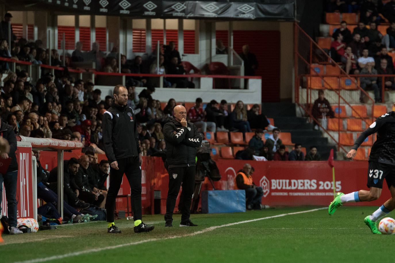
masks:
{"type": "Polygon", "coordinates": [[[245,211],[245,190],[201,191],[201,213],[203,214],[245,211]]]}

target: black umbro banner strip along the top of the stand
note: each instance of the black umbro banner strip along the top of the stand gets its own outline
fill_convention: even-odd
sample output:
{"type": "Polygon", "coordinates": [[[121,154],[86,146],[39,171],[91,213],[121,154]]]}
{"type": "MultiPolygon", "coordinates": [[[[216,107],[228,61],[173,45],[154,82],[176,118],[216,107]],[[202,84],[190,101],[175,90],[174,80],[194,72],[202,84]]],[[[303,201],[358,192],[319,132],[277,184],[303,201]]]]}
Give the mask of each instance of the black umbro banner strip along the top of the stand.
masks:
{"type": "MultiPolygon", "coordinates": [[[[4,1],[2,1],[4,2],[4,1]]],[[[13,6],[9,1],[7,6],[13,6]]],[[[295,0],[15,0],[26,9],[144,18],[295,20],[295,0]]],[[[20,6],[19,6],[20,7],[20,6]]]]}

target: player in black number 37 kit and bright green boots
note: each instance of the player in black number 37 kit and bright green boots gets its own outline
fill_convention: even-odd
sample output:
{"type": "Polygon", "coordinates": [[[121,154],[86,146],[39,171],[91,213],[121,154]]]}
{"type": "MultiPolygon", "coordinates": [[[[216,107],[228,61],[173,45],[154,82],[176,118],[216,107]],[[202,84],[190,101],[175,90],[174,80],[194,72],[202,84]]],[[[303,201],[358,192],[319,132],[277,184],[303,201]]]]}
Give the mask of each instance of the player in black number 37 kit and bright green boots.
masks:
{"type": "Polygon", "coordinates": [[[362,132],[355,140],[352,149],[347,153],[347,158],[354,158],[359,145],[374,132],[377,132],[377,140],[374,142],[369,155],[367,176],[369,191],[359,190],[349,194],[339,192],[330,203],[328,211],[329,215],[333,215],[336,209],[344,203],[377,200],[381,195],[385,178],[392,197],[374,211],[372,215],[364,219],[365,224],[371,229],[372,233],[381,234],[377,229],[377,221],[395,209],[395,112],[388,112],[380,116],[368,129],[362,132]]]}

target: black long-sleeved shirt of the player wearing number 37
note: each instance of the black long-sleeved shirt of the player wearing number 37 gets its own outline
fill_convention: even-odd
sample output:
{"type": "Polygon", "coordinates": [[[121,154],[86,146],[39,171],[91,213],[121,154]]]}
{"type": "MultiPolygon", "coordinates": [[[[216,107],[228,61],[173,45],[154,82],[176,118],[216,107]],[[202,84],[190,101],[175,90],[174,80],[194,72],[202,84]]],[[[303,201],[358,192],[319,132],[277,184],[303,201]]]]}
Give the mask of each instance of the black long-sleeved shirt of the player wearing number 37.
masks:
{"type": "Polygon", "coordinates": [[[358,149],[365,139],[377,132],[377,139],[374,142],[369,161],[395,164],[395,112],[388,112],[378,117],[368,129],[361,133],[355,140],[352,149],[358,149]]]}

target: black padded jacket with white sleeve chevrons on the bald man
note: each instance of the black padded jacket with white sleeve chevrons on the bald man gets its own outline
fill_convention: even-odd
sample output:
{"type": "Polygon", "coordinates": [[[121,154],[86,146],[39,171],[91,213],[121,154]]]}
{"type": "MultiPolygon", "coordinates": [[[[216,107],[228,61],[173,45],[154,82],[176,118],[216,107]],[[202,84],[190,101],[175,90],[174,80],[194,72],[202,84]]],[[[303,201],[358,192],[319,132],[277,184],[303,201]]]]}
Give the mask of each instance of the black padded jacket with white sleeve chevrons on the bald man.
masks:
{"type": "Polygon", "coordinates": [[[188,122],[187,127],[183,127],[174,116],[169,117],[163,127],[163,134],[169,167],[196,165],[196,147],[201,145],[202,137],[193,123],[188,122]]]}

